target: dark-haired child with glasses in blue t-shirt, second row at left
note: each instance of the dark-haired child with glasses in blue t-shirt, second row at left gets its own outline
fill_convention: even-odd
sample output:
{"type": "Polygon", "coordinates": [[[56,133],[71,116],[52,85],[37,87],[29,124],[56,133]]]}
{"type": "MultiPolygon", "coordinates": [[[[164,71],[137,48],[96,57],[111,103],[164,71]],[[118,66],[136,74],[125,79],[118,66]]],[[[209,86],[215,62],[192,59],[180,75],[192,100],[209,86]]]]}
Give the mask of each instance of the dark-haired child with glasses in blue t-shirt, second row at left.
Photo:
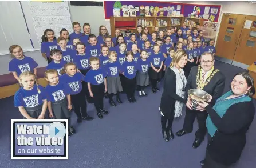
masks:
{"type": "Polygon", "coordinates": [[[62,59],[62,52],[58,49],[50,51],[50,58],[52,61],[46,66],[46,70],[55,69],[58,75],[61,76],[61,71],[64,68],[66,62],[62,59]]]}

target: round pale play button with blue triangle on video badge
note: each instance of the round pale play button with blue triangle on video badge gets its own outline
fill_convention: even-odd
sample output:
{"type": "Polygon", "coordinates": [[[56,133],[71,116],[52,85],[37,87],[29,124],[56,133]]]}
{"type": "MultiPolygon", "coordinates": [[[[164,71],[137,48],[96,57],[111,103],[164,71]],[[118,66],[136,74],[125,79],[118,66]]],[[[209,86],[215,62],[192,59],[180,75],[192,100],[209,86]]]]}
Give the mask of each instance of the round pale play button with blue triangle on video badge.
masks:
{"type": "Polygon", "coordinates": [[[49,126],[49,134],[51,137],[63,138],[66,135],[66,127],[63,123],[53,122],[49,126]]]}

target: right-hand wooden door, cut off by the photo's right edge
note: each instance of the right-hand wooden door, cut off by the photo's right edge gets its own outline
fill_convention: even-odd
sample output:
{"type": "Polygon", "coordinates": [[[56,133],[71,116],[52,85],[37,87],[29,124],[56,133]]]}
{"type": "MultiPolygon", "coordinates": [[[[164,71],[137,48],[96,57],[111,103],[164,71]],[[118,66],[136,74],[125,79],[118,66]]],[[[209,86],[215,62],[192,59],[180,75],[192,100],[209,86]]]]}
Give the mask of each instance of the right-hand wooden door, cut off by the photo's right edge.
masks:
{"type": "Polygon", "coordinates": [[[256,16],[246,15],[233,61],[245,65],[256,61],[256,16]]]}

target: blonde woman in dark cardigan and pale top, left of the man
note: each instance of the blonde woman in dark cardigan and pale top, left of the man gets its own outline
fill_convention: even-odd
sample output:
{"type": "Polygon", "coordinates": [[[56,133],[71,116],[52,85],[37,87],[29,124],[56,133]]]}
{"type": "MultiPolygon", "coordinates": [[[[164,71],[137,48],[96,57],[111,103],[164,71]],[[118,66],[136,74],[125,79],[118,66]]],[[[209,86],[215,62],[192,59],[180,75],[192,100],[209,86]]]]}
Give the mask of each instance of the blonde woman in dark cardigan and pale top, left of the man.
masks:
{"type": "Polygon", "coordinates": [[[186,104],[184,88],[187,80],[183,67],[187,63],[187,54],[183,50],[176,51],[170,67],[164,76],[163,93],[160,103],[162,133],[165,141],[174,138],[172,133],[172,122],[174,116],[179,116],[182,110],[182,103],[186,104]],[[166,126],[168,122],[168,126],[166,126]]]}

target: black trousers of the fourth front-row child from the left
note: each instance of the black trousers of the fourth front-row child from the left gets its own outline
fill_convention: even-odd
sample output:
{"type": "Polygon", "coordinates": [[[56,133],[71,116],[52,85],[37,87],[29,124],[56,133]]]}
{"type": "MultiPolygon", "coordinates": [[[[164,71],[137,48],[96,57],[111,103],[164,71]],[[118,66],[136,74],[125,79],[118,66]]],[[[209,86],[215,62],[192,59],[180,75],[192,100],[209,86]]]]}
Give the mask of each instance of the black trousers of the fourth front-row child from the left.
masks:
{"type": "Polygon", "coordinates": [[[103,98],[104,98],[104,92],[105,92],[105,85],[104,83],[101,83],[100,85],[92,85],[90,84],[90,89],[93,93],[93,103],[97,110],[97,112],[100,112],[100,110],[104,109],[103,105],[103,98]]]}

